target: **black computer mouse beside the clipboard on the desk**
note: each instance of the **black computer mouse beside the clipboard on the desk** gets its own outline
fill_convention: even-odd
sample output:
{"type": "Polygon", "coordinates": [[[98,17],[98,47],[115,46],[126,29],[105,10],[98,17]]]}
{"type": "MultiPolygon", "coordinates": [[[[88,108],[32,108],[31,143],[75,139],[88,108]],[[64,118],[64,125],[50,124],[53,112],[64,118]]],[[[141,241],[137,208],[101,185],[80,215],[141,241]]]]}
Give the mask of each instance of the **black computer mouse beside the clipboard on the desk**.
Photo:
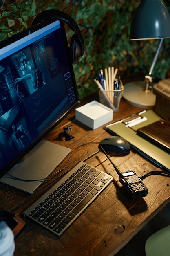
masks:
{"type": "Polygon", "coordinates": [[[119,136],[106,137],[102,139],[99,144],[104,148],[104,150],[110,150],[121,154],[130,153],[130,144],[126,139],[119,136]]]}

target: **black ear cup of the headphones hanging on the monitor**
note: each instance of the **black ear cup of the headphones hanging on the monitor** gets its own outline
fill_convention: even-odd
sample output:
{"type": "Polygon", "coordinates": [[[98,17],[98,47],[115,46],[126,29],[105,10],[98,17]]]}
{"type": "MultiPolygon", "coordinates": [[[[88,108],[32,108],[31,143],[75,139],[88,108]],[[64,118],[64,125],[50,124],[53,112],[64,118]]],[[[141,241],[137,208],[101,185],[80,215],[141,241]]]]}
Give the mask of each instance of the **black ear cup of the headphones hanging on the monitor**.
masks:
{"type": "Polygon", "coordinates": [[[79,43],[77,42],[76,34],[73,34],[73,36],[71,37],[70,55],[71,55],[73,64],[77,64],[79,59],[82,57],[82,49],[79,43]]]}

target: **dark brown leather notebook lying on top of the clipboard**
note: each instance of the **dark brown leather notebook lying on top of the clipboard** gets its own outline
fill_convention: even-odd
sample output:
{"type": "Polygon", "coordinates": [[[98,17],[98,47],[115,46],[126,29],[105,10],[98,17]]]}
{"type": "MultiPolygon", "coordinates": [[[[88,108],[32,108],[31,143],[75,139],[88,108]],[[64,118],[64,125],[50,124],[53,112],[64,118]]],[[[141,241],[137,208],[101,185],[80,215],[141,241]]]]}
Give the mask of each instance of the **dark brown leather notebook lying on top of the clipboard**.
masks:
{"type": "Polygon", "coordinates": [[[160,119],[137,129],[137,134],[170,153],[170,122],[160,119]]]}

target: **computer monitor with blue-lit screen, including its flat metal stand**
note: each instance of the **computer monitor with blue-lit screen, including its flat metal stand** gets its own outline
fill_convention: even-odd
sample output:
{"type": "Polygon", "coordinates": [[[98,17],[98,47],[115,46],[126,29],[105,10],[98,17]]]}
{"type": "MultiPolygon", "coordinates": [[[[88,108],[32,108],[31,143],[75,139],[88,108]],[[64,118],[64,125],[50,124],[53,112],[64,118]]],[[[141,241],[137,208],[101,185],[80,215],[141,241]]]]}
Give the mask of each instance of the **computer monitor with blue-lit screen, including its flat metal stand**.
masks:
{"type": "Polygon", "coordinates": [[[43,139],[79,103],[68,51],[58,20],[0,42],[0,182],[33,193],[71,151],[43,139]]]}

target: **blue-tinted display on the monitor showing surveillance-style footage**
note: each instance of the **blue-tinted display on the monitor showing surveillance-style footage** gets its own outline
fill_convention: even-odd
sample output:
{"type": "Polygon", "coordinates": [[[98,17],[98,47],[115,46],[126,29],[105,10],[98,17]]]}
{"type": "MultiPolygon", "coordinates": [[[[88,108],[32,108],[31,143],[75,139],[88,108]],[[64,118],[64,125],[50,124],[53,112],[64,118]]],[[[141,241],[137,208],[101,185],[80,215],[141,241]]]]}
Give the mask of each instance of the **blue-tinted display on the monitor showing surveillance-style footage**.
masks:
{"type": "Polygon", "coordinates": [[[65,43],[55,21],[0,49],[1,171],[77,103],[65,43]]]}

